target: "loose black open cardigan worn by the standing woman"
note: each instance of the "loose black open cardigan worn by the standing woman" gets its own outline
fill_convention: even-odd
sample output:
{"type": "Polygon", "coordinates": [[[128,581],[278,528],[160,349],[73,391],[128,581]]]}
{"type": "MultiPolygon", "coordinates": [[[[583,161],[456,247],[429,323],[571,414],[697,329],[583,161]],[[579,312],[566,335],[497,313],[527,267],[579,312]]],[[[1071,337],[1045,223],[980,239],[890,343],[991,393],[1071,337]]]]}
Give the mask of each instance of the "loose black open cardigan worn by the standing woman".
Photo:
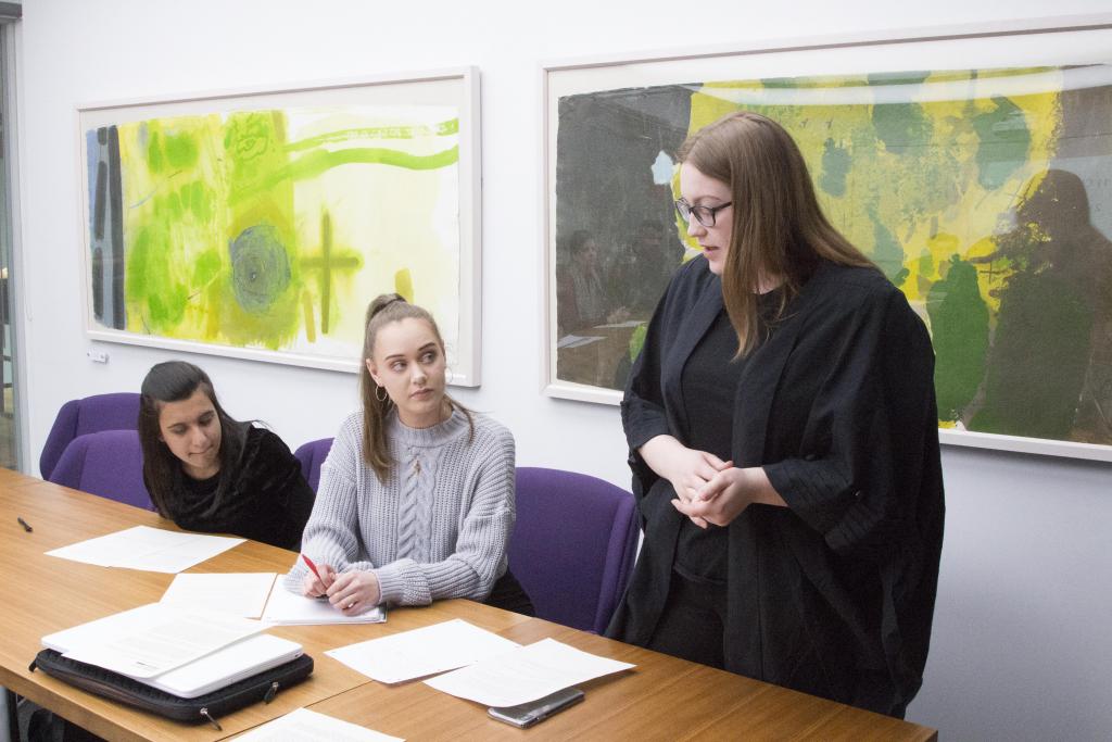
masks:
{"type": "MultiPolygon", "coordinates": [[[[682,518],[636,451],[688,438],[681,372],[723,306],[702,257],[677,271],[634,365],[622,419],[645,541],[607,635],[646,644],[682,518]]],[[[737,385],[735,466],[763,466],[788,507],[729,524],[725,664],[902,716],[922,684],[942,548],[934,355],[880,273],[824,263],[737,385]]]]}

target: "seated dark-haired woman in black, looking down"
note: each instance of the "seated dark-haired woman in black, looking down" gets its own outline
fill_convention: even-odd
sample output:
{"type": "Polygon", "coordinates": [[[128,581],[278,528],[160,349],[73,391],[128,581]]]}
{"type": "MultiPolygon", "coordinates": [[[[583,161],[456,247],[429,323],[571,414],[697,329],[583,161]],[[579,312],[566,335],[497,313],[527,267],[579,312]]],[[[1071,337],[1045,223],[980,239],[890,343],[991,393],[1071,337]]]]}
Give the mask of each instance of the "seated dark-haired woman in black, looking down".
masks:
{"type": "Polygon", "coordinates": [[[192,364],[150,369],[139,402],[143,483],[179,527],[297,550],[314,492],[281,438],[240,423],[192,364]]]}

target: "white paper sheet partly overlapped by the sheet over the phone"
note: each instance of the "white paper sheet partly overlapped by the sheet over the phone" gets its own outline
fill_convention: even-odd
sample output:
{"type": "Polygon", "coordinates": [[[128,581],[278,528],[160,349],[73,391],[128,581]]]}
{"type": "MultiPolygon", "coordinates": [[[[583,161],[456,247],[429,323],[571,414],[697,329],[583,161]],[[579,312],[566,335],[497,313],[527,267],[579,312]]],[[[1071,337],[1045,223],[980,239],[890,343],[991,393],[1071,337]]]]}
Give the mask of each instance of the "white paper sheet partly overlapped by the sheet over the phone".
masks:
{"type": "Polygon", "coordinates": [[[325,654],[380,683],[400,683],[474,664],[519,646],[455,619],[328,650],[325,654]]]}

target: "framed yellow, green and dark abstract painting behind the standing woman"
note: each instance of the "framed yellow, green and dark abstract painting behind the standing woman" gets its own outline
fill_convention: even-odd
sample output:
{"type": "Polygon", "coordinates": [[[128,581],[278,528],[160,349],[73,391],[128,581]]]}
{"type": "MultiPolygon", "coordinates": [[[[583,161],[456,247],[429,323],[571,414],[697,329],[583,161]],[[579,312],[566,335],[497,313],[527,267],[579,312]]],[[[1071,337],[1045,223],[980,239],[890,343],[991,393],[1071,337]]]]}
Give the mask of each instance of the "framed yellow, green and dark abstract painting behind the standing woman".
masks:
{"type": "Polygon", "coordinates": [[[739,109],[931,332],[945,443],[1112,461],[1112,16],[549,65],[546,392],[616,404],[697,255],[676,151],[739,109]]]}

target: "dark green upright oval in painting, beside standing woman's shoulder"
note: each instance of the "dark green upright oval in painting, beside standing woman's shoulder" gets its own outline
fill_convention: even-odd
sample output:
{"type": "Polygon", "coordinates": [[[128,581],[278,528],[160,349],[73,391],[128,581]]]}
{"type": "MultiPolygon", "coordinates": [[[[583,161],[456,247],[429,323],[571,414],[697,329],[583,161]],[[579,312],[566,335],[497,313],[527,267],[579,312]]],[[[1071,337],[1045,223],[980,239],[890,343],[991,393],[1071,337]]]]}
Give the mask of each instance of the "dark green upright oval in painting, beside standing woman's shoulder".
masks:
{"type": "Polygon", "coordinates": [[[957,422],[984,376],[989,353],[989,306],[981,297],[976,268],[951,258],[946,277],[926,295],[934,344],[934,388],[939,419],[957,422]]]}

